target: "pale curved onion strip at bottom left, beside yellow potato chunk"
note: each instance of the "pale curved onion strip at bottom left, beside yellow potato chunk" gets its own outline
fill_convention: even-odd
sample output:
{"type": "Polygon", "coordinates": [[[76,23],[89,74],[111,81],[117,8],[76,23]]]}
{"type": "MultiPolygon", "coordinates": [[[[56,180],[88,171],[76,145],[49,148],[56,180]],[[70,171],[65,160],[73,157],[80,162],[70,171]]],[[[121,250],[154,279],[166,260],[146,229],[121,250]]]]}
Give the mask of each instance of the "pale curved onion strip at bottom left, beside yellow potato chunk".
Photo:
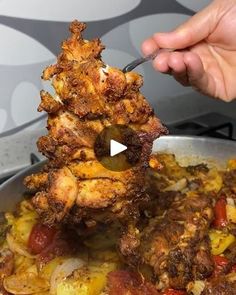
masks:
{"type": "Polygon", "coordinates": [[[73,273],[74,270],[80,269],[85,262],[79,258],[68,258],[62,264],[58,265],[52,273],[50,280],[50,293],[56,294],[57,285],[73,273]]]}

